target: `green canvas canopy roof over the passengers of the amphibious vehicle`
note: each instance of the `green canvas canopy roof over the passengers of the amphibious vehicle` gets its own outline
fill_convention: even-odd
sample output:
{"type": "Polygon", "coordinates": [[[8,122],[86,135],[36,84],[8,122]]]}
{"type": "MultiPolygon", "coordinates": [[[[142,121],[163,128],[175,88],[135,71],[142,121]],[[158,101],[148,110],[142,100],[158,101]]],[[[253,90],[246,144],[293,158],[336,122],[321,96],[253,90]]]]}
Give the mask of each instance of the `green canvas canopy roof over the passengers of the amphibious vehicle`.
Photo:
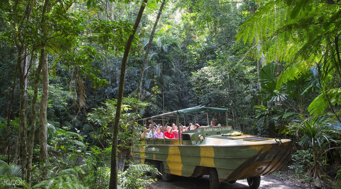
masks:
{"type": "MultiPolygon", "coordinates": [[[[157,116],[152,116],[152,117],[149,117],[149,118],[167,116],[167,115],[172,115],[172,114],[179,114],[179,115],[181,115],[181,114],[193,114],[193,113],[199,113],[199,112],[204,112],[204,111],[228,112],[228,110],[224,109],[224,108],[212,108],[212,107],[206,107],[206,106],[195,106],[195,107],[191,107],[191,108],[171,111],[171,112],[168,112],[168,113],[160,114],[160,115],[157,115],[157,116]]],[[[145,119],[149,119],[149,118],[143,118],[143,119],[139,119],[139,120],[145,120],[145,119]]],[[[139,121],[139,120],[137,120],[137,121],[139,121]]]]}

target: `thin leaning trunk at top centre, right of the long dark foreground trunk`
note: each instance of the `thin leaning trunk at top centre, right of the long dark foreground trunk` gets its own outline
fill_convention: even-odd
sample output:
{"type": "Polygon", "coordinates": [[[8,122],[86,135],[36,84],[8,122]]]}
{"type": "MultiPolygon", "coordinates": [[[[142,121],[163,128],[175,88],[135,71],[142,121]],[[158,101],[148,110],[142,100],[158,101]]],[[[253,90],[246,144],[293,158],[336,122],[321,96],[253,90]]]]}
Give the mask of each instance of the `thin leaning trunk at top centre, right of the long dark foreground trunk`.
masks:
{"type": "Polygon", "coordinates": [[[166,0],[162,0],[162,3],[160,5],[158,16],[156,17],[153,29],[151,30],[151,34],[150,34],[150,37],[149,37],[149,42],[148,42],[148,45],[147,45],[146,53],[145,53],[145,56],[143,58],[143,63],[142,63],[142,67],[141,67],[141,70],[140,70],[140,79],[139,79],[138,86],[137,86],[137,92],[138,92],[138,99],[139,100],[142,100],[141,92],[142,92],[143,73],[144,73],[144,70],[145,70],[145,67],[146,67],[146,62],[147,62],[147,59],[148,59],[148,56],[149,56],[149,51],[150,51],[150,48],[151,48],[151,45],[152,45],[152,42],[153,42],[155,30],[156,30],[156,27],[158,25],[158,22],[159,22],[159,19],[160,19],[160,16],[161,16],[161,13],[162,13],[162,9],[163,9],[163,5],[165,4],[165,1],[166,0]]]}

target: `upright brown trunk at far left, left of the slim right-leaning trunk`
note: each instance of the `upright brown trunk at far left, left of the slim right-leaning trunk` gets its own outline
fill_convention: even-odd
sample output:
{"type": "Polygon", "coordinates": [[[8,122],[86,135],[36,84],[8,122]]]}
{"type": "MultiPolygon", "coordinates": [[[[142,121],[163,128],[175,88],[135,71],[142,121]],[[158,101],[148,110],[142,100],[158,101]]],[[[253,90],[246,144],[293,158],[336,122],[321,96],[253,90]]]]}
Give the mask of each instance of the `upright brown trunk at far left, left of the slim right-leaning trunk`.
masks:
{"type": "MultiPolygon", "coordinates": [[[[17,67],[19,70],[19,88],[20,88],[20,122],[19,122],[19,135],[20,135],[20,150],[21,150],[21,178],[25,181],[26,179],[26,87],[27,87],[27,57],[26,47],[21,45],[18,48],[17,67]]],[[[19,137],[19,136],[18,136],[19,137]]]]}

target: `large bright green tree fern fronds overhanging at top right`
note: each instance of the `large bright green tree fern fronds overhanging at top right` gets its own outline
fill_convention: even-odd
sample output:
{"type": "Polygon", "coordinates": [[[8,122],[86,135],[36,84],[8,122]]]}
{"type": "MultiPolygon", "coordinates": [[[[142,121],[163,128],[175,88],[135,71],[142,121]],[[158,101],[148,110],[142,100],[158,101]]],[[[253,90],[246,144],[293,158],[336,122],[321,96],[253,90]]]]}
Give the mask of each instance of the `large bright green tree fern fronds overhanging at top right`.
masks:
{"type": "Polygon", "coordinates": [[[259,59],[264,53],[265,63],[286,62],[278,86],[321,59],[330,37],[336,35],[340,19],[335,17],[339,5],[325,2],[311,2],[311,10],[296,11],[293,18],[299,2],[291,5],[284,0],[268,2],[241,25],[236,35],[237,42],[256,42],[248,52],[254,58],[259,59]],[[259,52],[255,49],[258,45],[259,52]]]}

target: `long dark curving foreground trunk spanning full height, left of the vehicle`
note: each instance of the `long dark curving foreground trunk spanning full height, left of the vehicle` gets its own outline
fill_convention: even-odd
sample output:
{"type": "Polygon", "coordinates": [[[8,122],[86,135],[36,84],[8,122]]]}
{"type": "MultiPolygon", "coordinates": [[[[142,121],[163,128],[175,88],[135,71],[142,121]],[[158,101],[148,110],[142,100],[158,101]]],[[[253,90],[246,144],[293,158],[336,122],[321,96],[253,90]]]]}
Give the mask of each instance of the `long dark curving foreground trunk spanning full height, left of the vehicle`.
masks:
{"type": "Polygon", "coordinates": [[[122,58],[116,115],[115,115],[115,122],[113,126],[113,145],[112,145],[112,151],[111,151],[111,169],[110,169],[109,189],[117,189],[117,170],[116,170],[117,138],[118,138],[118,127],[119,127],[119,121],[120,121],[120,116],[121,116],[121,107],[122,107],[122,99],[123,99],[125,69],[127,68],[127,59],[128,59],[130,47],[133,42],[138,24],[141,21],[141,17],[142,17],[143,11],[145,10],[146,4],[147,4],[147,0],[143,0],[140,6],[140,9],[138,11],[134,26],[133,26],[133,29],[134,29],[133,33],[128,38],[127,45],[125,45],[124,54],[122,58]]]}

